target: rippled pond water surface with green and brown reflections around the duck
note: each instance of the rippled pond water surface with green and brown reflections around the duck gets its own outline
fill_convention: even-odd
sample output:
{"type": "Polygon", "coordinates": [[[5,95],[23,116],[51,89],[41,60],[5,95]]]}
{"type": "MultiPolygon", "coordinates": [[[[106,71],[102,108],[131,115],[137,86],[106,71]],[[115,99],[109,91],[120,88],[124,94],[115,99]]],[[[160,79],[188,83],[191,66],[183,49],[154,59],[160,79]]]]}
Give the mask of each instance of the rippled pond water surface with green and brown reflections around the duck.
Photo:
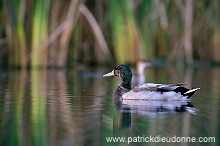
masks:
{"type": "MultiPolygon", "coordinates": [[[[129,145],[219,145],[220,68],[149,68],[145,82],[200,87],[189,111],[124,108],[112,102],[117,78],[111,68],[0,72],[0,145],[127,145],[107,137],[132,138],[129,145]],[[212,143],[147,143],[138,137],[215,137],[212,143]]],[[[171,103],[172,104],[172,103],[171,103]]],[[[143,139],[142,139],[143,140],[143,139]]]]}

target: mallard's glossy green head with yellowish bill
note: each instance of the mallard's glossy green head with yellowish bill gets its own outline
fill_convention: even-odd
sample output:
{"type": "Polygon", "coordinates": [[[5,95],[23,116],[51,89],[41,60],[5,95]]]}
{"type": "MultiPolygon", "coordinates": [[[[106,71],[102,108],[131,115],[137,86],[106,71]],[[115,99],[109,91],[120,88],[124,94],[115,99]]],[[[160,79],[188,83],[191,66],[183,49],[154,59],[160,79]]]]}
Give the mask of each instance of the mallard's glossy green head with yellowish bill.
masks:
{"type": "Polygon", "coordinates": [[[122,87],[131,89],[132,72],[129,66],[125,64],[117,65],[111,72],[103,75],[103,77],[117,76],[122,80],[122,87]]]}

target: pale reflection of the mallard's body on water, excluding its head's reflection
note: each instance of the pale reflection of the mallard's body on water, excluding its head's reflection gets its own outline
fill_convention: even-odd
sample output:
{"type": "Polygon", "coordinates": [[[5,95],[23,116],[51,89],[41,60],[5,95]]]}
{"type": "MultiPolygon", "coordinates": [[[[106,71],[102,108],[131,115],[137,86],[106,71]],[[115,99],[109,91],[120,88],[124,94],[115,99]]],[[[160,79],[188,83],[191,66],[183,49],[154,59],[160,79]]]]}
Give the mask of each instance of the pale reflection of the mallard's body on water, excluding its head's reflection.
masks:
{"type": "Polygon", "coordinates": [[[198,110],[189,101],[143,101],[143,100],[123,100],[113,99],[113,104],[117,111],[122,113],[138,113],[141,115],[155,115],[166,113],[189,112],[197,115],[198,110]]]}

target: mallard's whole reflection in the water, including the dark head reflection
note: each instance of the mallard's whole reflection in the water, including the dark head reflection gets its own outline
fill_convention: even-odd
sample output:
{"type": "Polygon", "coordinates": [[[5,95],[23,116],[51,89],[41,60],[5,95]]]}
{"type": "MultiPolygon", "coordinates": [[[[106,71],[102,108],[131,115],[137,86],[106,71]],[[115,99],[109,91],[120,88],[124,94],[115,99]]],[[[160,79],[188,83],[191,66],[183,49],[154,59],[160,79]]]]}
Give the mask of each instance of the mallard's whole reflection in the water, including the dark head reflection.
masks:
{"type": "MultiPolygon", "coordinates": [[[[132,114],[155,118],[166,114],[178,114],[188,112],[197,115],[198,110],[189,101],[141,101],[132,102],[130,100],[119,101],[113,99],[116,111],[120,113],[117,122],[118,130],[129,128],[132,123],[132,114]]],[[[111,120],[112,121],[112,120],[111,120]]]]}

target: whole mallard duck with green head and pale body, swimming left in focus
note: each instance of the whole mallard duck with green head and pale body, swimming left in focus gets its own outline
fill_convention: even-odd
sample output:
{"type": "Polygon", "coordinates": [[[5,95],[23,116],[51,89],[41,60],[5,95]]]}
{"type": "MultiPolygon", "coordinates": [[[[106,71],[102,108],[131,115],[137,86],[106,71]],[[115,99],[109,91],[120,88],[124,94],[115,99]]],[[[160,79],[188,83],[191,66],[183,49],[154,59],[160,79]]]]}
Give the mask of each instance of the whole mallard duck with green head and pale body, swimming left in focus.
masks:
{"type": "Polygon", "coordinates": [[[103,77],[117,76],[122,80],[114,93],[113,99],[118,100],[187,100],[198,89],[187,89],[179,84],[154,84],[146,83],[131,88],[132,72],[129,66],[124,64],[117,65],[111,72],[103,77]]]}

